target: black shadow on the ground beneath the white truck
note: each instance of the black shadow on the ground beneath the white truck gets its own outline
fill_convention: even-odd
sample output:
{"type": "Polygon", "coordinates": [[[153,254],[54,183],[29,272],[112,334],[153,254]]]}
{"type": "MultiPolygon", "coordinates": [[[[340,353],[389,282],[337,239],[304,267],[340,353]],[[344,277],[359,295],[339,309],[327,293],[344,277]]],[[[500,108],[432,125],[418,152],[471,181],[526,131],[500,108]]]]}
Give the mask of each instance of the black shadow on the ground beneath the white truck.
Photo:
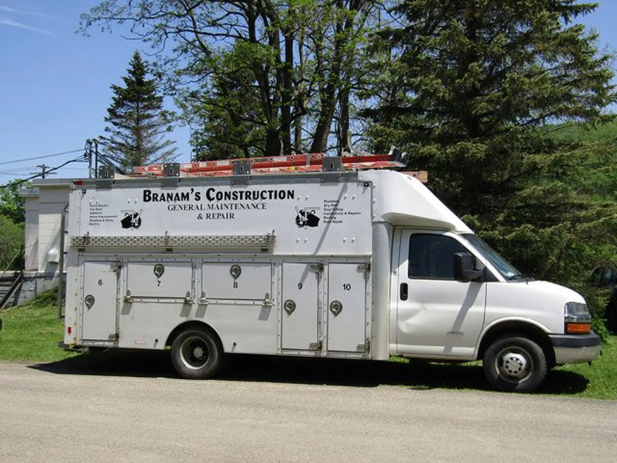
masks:
{"type": "MultiPolygon", "coordinates": [[[[169,351],[111,349],[81,354],[59,362],[30,365],[30,368],[59,375],[178,378],[169,351]]],[[[223,369],[214,380],[356,387],[396,385],[413,390],[492,390],[478,364],[371,362],[242,354],[227,356],[223,369]]],[[[552,370],[537,393],[575,394],[584,391],[588,382],[578,373],[552,370]]]]}

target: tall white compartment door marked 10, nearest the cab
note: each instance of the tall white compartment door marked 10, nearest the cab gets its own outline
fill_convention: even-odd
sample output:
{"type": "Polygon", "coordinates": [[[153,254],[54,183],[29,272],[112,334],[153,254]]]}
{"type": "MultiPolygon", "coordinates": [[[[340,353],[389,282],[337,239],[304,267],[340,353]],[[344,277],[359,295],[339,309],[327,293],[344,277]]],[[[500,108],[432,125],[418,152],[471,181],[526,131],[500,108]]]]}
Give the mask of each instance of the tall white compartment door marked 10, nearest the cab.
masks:
{"type": "Polygon", "coordinates": [[[365,265],[328,265],[328,351],[365,352],[365,265]]]}

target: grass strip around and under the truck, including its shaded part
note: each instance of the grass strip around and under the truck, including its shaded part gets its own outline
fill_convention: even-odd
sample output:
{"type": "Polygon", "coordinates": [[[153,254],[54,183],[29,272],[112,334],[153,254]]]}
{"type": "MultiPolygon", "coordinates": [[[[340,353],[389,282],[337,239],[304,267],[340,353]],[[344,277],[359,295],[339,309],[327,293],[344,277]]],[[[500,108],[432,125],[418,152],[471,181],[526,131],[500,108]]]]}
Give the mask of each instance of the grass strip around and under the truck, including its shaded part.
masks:
{"type": "MultiPolygon", "coordinates": [[[[57,320],[56,311],[56,294],[50,291],[0,312],[4,321],[0,361],[37,362],[39,369],[67,374],[176,377],[169,351],[110,349],[88,355],[64,351],[57,347],[64,324],[57,320]]],[[[226,380],[491,390],[480,362],[407,364],[395,358],[392,362],[362,362],[237,355],[228,363],[219,374],[226,380]]],[[[602,357],[591,366],[570,364],[551,370],[537,393],[617,400],[617,336],[608,338],[602,357]]]]}

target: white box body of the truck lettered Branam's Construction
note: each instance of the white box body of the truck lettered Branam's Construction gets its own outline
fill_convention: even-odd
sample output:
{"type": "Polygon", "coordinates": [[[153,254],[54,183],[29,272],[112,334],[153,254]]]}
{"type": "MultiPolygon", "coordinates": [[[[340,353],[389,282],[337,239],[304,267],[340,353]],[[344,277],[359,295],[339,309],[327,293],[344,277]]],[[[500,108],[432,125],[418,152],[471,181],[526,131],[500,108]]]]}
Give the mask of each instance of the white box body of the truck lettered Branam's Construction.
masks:
{"type": "Polygon", "coordinates": [[[173,328],[199,320],[226,352],[367,356],[371,186],[205,180],[70,193],[69,235],[94,246],[69,248],[67,341],[162,349],[173,328]],[[91,307],[80,303],[88,294],[91,307]]]}

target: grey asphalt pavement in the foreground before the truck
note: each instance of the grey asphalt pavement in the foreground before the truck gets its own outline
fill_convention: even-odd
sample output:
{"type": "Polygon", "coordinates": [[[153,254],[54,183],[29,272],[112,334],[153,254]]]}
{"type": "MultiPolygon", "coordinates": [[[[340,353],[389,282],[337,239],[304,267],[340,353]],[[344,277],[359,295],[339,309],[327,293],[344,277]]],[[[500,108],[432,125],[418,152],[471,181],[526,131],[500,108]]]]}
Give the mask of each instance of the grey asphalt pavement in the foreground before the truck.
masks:
{"type": "Polygon", "coordinates": [[[147,373],[0,363],[0,462],[617,461],[617,402],[147,373]]]}

